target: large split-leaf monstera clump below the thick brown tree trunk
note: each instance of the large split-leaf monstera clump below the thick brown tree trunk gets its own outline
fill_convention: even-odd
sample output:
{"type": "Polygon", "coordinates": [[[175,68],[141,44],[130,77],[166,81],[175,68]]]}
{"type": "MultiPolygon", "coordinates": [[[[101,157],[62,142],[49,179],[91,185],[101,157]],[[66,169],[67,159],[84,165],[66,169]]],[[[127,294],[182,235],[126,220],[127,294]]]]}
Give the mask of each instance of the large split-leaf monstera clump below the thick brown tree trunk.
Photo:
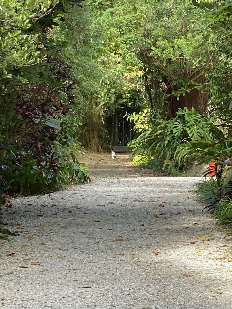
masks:
{"type": "MultiPolygon", "coordinates": [[[[131,117],[131,120],[134,118],[134,116],[131,117]]],[[[138,118],[139,121],[140,118],[138,118]]],[[[193,161],[192,158],[195,158],[189,142],[202,139],[211,141],[215,135],[224,137],[213,121],[207,116],[200,115],[194,108],[191,110],[179,108],[176,117],[170,120],[148,121],[146,117],[146,122],[144,118],[141,121],[142,127],[140,124],[135,126],[140,135],[128,146],[133,147],[135,155],[146,154],[148,158],[162,161],[163,170],[170,165],[168,171],[174,174],[183,174],[193,161]]]]}

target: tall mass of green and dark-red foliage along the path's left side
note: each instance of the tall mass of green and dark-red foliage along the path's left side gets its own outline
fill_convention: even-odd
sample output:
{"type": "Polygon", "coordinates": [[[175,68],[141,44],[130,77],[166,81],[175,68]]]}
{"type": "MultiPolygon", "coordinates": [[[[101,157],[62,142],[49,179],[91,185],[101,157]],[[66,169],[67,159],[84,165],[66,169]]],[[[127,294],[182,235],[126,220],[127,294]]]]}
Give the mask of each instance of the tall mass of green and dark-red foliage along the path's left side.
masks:
{"type": "Polygon", "coordinates": [[[60,184],[89,180],[87,168],[78,163],[71,139],[62,129],[71,113],[77,83],[66,55],[66,16],[75,11],[78,23],[79,10],[68,1],[2,3],[2,192],[48,192],[60,184]]]}

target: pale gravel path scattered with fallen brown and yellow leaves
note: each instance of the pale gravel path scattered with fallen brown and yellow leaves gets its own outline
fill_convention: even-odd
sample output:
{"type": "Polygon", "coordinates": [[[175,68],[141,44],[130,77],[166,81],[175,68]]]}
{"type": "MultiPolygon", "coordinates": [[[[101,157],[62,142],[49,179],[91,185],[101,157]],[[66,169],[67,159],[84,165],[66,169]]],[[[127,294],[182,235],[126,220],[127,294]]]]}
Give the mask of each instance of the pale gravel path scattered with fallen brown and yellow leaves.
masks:
{"type": "Polygon", "coordinates": [[[232,238],[196,201],[199,180],[93,178],[12,199],[2,308],[231,309],[232,238]]]}

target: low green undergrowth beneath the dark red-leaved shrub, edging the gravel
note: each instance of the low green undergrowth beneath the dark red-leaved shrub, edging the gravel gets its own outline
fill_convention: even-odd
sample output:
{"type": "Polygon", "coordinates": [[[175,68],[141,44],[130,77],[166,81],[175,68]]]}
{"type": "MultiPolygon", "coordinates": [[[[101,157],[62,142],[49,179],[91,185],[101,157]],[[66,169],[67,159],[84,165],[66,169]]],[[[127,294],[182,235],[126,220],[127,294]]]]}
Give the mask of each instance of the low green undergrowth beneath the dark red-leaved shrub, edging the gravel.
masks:
{"type": "Polygon", "coordinates": [[[54,142],[51,153],[37,161],[30,153],[9,149],[7,163],[2,164],[2,178],[8,193],[32,194],[55,191],[61,184],[90,180],[88,168],[79,163],[75,151],[54,142]]]}

